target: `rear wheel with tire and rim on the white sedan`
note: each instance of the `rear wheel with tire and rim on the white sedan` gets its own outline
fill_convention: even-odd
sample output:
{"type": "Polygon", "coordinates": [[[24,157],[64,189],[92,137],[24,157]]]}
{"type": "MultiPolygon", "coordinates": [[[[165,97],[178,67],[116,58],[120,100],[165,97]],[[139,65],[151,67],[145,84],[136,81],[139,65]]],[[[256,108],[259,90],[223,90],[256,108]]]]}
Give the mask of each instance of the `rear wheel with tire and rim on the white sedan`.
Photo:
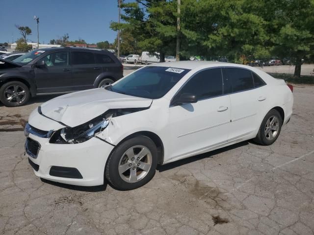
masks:
{"type": "Polygon", "coordinates": [[[280,134],[282,124],[283,120],[279,112],[275,109],[270,110],[263,119],[254,141],[262,145],[274,143],[280,134]]]}

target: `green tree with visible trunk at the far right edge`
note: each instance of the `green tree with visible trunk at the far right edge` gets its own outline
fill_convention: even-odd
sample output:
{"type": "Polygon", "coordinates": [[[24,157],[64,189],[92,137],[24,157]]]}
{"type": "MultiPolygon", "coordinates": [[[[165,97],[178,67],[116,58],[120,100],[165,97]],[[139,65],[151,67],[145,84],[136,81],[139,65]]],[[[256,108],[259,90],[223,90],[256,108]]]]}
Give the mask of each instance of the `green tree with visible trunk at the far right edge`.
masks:
{"type": "Polygon", "coordinates": [[[300,77],[302,59],[314,56],[314,0],[280,0],[271,3],[273,54],[295,60],[300,77]]]}

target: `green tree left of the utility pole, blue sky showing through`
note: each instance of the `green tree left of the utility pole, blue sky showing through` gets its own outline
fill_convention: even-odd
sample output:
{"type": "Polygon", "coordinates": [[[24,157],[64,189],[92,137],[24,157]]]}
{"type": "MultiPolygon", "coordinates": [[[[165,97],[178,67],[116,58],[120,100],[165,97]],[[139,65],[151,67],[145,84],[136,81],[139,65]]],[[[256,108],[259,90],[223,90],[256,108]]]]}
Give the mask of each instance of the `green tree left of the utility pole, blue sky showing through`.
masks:
{"type": "Polygon", "coordinates": [[[131,34],[140,50],[160,52],[160,61],[166,53],[175,54],[177,5],[167,0],[136,0],[121,5],[126,23],[111,22],[110,27],[131,34]]]}

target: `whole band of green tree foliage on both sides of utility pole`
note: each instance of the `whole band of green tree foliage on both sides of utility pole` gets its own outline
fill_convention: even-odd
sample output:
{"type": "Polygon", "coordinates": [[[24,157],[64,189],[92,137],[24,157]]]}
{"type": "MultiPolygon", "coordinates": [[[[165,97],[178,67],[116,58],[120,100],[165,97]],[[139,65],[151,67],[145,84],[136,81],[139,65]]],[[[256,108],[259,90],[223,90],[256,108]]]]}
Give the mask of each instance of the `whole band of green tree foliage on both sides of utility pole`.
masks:
{"type": "MultiPolygon", "coordinates": [[[[123,23],[110,27],[127,35],[126,50],[175,54],[177,0],[134,0],[122,8],[123,23]]],[[[185,57],[294,58],[296,76],[301,59],[314,60],[314,0],[182,0],[180,18],[185,57]]]]}

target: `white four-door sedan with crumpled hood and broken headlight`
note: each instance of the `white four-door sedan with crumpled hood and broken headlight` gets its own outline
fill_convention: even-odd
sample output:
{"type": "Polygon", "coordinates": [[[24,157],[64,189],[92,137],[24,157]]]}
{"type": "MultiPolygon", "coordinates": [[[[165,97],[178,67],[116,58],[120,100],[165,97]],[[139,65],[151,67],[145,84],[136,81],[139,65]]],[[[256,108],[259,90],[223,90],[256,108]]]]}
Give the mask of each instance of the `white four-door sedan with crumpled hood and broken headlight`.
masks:
{"type": "Polygon", "coordinates": [[[292,90],[244,65],[154,64],[39,106],[26,124],[26,155],[44,179],[138,188],[157,164],[250,139],[272,144],[291,117],[292,90]]]}

